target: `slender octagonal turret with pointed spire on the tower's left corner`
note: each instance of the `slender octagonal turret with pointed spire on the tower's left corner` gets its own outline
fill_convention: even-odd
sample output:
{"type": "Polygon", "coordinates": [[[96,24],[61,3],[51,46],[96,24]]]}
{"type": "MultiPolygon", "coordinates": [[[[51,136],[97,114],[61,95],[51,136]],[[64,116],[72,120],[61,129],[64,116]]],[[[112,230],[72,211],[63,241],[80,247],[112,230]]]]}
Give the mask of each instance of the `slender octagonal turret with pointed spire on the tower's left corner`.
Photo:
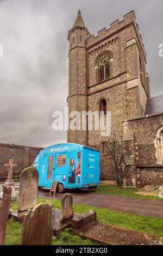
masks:
{"type": "MultiPolygon", "coordinates": [[[[82,111],[87,111],[87,50],[86,40],[90,36],[80,10],[73,28],[68,32],[69,51],[69,86],[68,107],[70,113],[78,111],[82,120],[82,111]]],[[[70,119],[71,120],[71,119],[70,119]]],[[[68,131],[67,141],[87,145],[87,131],[68,131]]]]}

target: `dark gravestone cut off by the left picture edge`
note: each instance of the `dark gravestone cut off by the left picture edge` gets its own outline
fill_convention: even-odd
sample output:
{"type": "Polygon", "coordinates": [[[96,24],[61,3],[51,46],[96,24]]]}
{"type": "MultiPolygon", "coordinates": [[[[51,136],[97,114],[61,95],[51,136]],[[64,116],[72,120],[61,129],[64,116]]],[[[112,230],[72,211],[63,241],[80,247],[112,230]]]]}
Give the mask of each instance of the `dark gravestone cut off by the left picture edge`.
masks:
{"type": "Polygon", "coordinates": [[[11,187],[0,185],[0,245],[4,245],[5,229],[8,221],[11,187]]]}

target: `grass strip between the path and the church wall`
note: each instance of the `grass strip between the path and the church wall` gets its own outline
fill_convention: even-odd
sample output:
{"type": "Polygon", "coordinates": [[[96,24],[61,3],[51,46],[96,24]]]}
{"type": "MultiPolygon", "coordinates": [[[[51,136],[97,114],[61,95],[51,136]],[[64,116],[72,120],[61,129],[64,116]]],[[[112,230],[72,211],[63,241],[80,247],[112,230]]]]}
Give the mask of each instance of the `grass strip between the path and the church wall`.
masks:
{"type": "MultiPolygon", "coordinates": [[[[118,187],[115,185],[99,185],[95,190],[96,193],[101,194],[114,194],[115,196],[126,196],[126,197],[137,197],[137,198],[147,198],[161,200],[159,197],[154,196],[142,196],[140,194],[135,194],[139,189],[134,187],[118,187]]],[[[141,190],[140,190],[141,191],[141,190]]]]}

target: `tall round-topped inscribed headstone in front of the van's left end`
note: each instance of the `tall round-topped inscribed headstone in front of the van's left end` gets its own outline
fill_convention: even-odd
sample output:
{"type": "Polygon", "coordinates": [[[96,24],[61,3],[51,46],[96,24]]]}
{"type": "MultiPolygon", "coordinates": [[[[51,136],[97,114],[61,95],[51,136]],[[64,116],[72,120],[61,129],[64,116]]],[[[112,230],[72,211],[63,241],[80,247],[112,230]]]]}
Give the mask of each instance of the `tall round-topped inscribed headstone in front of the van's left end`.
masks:
{"type": "Polygon", "coordinates": [[[34,167],[27,167],[20,176],[18,212],[33,209],[37,204],[39,173],[34,167]]]}

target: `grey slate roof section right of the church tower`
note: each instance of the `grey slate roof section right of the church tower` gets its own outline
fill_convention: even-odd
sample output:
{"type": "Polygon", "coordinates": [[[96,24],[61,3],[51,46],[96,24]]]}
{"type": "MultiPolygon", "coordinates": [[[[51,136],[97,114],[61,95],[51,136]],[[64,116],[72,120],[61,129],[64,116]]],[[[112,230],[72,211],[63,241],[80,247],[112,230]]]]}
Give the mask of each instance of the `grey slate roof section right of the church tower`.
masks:
{"type": "Polygon", "coordinates": [[[163,94],[147,100],[145,115],[163,113],[163,94]]]}

